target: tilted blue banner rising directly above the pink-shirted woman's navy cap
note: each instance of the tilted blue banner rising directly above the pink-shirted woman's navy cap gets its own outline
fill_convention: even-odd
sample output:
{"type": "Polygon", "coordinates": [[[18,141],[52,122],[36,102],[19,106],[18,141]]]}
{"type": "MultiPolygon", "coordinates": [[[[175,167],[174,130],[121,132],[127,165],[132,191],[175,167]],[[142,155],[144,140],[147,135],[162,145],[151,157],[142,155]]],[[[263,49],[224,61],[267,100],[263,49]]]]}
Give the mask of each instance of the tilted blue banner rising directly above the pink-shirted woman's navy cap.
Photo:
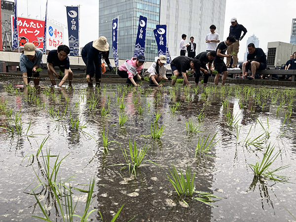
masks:
{"type": "Polygon", "coordinates": [[[144,55],[146,39],[147,18],[140,15],[137,40],[135,45],[134,57],[144,55]]]}

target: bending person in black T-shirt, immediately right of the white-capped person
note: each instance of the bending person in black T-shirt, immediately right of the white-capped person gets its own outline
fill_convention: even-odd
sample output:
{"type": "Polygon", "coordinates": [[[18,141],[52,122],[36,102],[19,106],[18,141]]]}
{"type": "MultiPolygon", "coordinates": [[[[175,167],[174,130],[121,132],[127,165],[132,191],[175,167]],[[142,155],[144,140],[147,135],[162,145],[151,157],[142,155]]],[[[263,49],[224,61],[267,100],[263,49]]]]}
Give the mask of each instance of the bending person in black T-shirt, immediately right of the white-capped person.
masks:
{"type": "MultiPolygon", "coordinates": [[[[178,77],[179,73],[183,75],[183,85],[191,86],[188,82],[189,74],[187,70],[191,69],[191,73],[194,73],[194,70],[200,69],[200,62],[197,59],[192,59],[187,56],[178,56],[171,62],[171,69],[173,74],[178,77]]],[[[175,85],[176,80],[172,79],[172,85],[175,85]]]]}

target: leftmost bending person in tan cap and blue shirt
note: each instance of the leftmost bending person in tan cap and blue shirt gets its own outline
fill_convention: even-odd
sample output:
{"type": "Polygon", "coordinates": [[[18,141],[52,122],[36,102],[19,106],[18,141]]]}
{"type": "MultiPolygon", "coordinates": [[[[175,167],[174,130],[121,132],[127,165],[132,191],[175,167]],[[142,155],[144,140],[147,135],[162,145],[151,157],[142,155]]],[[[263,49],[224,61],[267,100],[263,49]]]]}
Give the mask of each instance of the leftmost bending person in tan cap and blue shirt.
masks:
{"type": "Polygon", "coordinates": [[[26,43],[24,45],[24,51],[20,57],[20,68],[23,74],[24,86],[27,86],[31,80],[33,74],[33,81],[35,85],[39,85],[40,74],[37,72],[37,68],[40,66],[42,60],[42,51],[36,49],[33,43],[26,43]]]}

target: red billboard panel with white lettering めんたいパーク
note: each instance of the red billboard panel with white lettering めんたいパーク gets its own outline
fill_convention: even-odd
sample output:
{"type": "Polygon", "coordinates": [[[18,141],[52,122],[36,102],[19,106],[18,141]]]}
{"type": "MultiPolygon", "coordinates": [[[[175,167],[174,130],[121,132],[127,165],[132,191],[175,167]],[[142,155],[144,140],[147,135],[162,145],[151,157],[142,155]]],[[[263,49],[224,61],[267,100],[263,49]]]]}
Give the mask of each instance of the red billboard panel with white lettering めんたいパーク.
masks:
{"type": "MultiPolygon", "coordinates": [[[[13,18],[12,16],[12,21],[13,18]]],[[[23,47],[27,42],[32,42],[36,48],[43,48],[44,23],[43,20],[18,17],[19,46],[23,47]]]]}

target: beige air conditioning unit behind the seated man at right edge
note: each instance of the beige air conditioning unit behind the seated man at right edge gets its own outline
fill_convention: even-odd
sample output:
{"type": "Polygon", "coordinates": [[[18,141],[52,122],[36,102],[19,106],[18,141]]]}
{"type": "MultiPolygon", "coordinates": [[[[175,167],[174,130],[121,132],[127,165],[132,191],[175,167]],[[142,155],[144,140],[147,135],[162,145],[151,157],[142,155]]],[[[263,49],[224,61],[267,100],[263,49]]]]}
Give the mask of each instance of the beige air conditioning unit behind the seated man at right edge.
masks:
{"type": "Polygon", "coordinates": [[[296,45],[282,41],[267,43],[267,66],[281,67],[290,59],[290,55],[296,52],[296,45]]]}

